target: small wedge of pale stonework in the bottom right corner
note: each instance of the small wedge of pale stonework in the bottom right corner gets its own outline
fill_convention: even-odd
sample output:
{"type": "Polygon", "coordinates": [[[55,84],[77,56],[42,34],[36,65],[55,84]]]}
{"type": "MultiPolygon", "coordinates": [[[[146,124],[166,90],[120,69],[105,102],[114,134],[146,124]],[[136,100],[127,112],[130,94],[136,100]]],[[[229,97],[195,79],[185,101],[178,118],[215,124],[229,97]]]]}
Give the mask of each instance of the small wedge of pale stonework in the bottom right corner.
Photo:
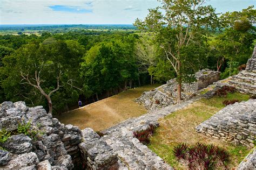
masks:
{"type": "Polygon", "coordinates": [[[238,170],[256,169],[256,148],[239,164],[238,170]]]}

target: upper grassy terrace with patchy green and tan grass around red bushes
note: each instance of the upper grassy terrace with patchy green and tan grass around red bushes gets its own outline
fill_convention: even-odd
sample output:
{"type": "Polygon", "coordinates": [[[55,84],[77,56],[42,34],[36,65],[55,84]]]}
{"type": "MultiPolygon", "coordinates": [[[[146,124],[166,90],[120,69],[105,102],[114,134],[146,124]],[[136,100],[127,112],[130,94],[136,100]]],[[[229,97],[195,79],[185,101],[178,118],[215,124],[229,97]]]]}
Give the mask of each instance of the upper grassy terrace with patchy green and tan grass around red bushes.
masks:
{"type": "Polygon", "coordinates": [[[250,148],[245,146],[234,146],[222,140],[209,138],[204,134],[197,133],[195,127],[201,122],[206,121],[212,115],[225,106],[222,103],[224,100],[237,98],[239,101],[247,101],[250,96],[234,93],[224,97],[212,97],[210,99],[201,99],[183,110],[174,112],[159,120],[160,127],[156,133],[150,138],[148,147],[157,153],[175,169],[188,169],[180,164],[173,155],[173,146],[178,143],[195,144],[197,142],[214,144],[225,147],[232,155],[231,161],[228,164],[230,169],[237,167],[250,152],[250,148]]]}

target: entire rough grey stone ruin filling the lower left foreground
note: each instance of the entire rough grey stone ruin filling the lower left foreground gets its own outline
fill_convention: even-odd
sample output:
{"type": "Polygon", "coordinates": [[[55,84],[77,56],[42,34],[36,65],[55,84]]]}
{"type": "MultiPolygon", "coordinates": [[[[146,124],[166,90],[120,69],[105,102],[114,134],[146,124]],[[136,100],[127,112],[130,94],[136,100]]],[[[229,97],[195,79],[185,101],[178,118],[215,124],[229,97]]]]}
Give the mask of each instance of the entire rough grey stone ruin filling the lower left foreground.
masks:
{"type": "Polygon", "coordinates": [[[0,143],[0,169],[72,169],[79,164],[87,169],[118,167],[117,154],[97,133],[61,124],[42,106],[29,108],[25,102],[3,102],[0,129],[15,133],[0,143]],[[22,122],[31,122],[42,134],[33,139],[18,134],[22,122]]]}

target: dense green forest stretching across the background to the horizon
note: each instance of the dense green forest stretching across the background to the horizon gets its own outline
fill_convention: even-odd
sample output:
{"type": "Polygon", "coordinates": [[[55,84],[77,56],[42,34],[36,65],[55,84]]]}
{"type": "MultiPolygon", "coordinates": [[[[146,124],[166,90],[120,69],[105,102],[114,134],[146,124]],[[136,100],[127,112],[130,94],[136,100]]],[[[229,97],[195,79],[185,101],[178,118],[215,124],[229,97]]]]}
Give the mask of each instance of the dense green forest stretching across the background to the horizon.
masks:
{"type": "MultiPolygon", "coordinates": [[[[169,7],[163,4],[162,9],[169,7]]],[[[168,23],[168,16],[179,16],[179,10],[167,11],[164,16],[151,9],[145,20],[136,20],[136,31],[125,25],[123,31],[112,32],[86,30],[95,26],[31,26],[30,30],[43,31],[39,35],[0,36],[0,103],[25,101],[60,113],[79,99],[94,102],[172,78],[180,85],[191,82],[190,75],[199,69],[218,70],[225,79],[244,67],[256,39],[253,6],[219,16],[209,6],[199,6],[196,15],[207,17],[187,23],[176,18],[168,23]],[[68,27],[80,29],[65,30],[68,27]]],[[[99,29],[117,28],[107,25],[99,29]]],[[[1,29],[22,32],[26,28],[1,29]]]]}

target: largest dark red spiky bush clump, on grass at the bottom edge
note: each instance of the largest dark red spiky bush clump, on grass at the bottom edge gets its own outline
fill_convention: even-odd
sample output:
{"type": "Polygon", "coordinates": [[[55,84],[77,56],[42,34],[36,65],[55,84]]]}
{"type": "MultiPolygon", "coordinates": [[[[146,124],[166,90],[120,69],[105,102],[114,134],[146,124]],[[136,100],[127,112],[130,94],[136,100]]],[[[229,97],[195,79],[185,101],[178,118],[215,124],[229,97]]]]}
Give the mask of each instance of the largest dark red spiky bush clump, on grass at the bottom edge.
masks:
{"type": "Polygon", "coordinates": [[[213,144],[197,143],[188,146],[181,143],[173,148],[173,153],[178,160],[185,161],[189,169],[215,169],[221,166],[227,168],[227,162],[231,158],[225,148],[213,144]]]}

